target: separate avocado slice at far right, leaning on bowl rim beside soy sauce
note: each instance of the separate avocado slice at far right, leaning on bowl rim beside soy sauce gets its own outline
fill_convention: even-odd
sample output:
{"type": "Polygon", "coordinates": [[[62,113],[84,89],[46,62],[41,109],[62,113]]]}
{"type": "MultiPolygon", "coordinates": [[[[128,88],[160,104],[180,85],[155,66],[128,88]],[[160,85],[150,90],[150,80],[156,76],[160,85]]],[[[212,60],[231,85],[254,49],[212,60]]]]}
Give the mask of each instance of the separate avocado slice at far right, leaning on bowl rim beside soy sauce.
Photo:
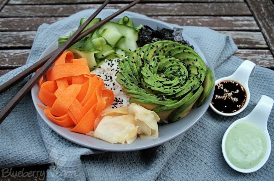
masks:
{"type": "Polygon", "coordinates": [[[207,100],[207,97],[210,94],[211,89],[214,87],[215,81],[214,76],[210,68],[207,68],[207,74],[204,78],[204,82],[202,86],[204,87],[204,91],[202,92],[202,95],[199,98],[198,106],[201,106],[204,104],[205,100],[207,100]]]}

